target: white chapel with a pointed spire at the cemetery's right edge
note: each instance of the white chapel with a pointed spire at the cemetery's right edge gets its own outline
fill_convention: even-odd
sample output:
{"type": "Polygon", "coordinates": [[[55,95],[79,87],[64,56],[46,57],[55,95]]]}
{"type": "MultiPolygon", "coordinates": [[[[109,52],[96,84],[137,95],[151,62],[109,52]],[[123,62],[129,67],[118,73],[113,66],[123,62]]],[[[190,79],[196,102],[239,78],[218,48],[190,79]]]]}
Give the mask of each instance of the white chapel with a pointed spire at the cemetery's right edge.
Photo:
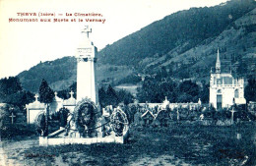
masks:
{"type": "Polygon", "coordinates": [[[244,80],[221,73],[220,52],[218,49],[216,71],[211,71],[209,103],[217,109],[228,108],[233,104],[246,104],[244,80]]]}

